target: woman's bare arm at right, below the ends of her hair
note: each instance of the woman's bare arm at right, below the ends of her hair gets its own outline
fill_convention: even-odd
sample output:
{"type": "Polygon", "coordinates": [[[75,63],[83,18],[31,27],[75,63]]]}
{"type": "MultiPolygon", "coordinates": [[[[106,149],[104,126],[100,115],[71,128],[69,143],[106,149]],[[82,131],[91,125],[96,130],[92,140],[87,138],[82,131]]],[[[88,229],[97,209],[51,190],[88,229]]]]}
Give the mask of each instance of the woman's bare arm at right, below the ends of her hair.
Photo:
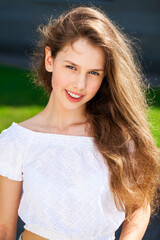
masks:
{"type": "Polygon", "coordinates": [[[150,205],[137,209],[129,220],[125,220],[119,240],[141,240],[150,220],[150,205]]]}

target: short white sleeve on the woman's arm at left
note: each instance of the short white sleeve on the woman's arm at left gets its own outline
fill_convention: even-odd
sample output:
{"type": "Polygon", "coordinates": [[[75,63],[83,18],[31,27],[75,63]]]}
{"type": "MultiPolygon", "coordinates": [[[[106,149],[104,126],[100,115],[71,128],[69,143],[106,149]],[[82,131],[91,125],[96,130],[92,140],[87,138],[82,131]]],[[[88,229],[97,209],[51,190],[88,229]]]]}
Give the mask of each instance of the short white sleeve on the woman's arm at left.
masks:
{"type": "Polygon", "coordinates": [[[5,129],[0,134],[0,175],[22,181],[20,141],[5,129]]]}

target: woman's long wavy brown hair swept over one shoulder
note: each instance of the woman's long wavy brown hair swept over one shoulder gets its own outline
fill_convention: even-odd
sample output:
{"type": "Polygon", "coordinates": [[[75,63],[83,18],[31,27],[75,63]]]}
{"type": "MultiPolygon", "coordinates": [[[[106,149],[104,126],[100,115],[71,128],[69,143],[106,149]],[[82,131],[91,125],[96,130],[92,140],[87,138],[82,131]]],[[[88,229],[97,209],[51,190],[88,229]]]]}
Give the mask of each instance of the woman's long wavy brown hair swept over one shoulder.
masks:
{"type": "Polygon", "coordinates": [[[158,200],[159,149],[147,121],[147,100],[140,62],[131,40],[96,7],[77,7],[50,18],[38,28],[40,39],[32,54],[34,82],[48,94],[51,73],[45,69],[45,47],[52,57],[68,43],[85,38],[101,47],[106,58],[105,77],[97,94],[87,102],[91,135],[110,170],[117,208],[129,217],[158,200]]]}

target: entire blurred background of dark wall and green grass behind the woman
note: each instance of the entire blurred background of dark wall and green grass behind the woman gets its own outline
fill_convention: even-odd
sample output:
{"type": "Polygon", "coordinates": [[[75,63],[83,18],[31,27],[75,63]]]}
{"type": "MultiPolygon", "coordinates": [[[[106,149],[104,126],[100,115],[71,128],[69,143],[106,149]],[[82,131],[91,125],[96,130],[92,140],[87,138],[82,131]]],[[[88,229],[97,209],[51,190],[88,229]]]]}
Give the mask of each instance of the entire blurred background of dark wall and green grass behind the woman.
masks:
{"type": "MultiPolygon", "coordinates": [[[[137,45],[149,81],[148,120],[160,147],[160,1],[159,0],[0,0],[0,131],[40,112],[48,101],[28,77],[37,27],[79,5],[101,8],[137,45]]],[[[144,240],[160,239],[159,216],[151,219],[144,240]]],[[[17,239],[24,223],[19,218],[17,239]]],[[[118,239],[121,228],[116,233],[118,239]]]]}

